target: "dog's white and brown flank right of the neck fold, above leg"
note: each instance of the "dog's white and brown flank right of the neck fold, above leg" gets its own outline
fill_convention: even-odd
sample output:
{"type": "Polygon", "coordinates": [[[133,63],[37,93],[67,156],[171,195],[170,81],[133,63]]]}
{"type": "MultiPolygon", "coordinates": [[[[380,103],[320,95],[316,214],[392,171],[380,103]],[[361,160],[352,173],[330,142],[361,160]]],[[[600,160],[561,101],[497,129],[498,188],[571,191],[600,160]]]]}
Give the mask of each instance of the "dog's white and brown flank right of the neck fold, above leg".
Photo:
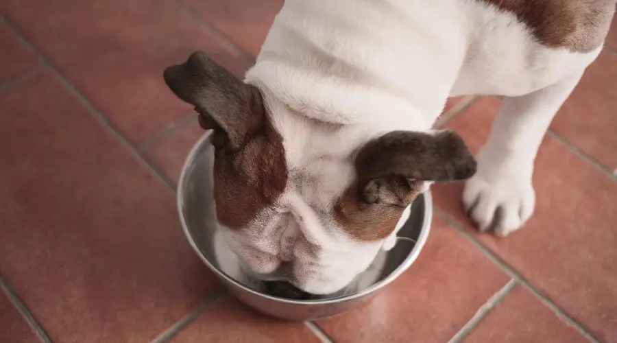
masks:
{"type": "Polygon", "coordinates": [[[579,73],[598,55],[614,0],[463,1],[465,59],[451,95],[518,96],[579,73]]]}

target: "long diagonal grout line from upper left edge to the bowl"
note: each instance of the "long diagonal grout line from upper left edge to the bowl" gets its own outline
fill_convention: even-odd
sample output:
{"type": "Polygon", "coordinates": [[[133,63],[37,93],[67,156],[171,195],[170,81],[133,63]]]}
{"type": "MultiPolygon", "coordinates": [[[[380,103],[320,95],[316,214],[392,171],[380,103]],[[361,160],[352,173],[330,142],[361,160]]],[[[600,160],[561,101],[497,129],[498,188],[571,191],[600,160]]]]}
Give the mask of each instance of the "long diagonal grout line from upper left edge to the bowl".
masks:
{"type": "Polygon", "coordinates": [[[23,32],[21,32],[21,30],[12,21],[10,21],[9,19],[6,19],[1,14],[0,14],[0,20],[3,20],[8,25],[8,27],[12,29],[14,34],[16,34],[16,36],[20,40],[22,40],[23,43],[25,43],[27,47],[29,47],[29,49],[32,52],[34,52],[36,56],[38,56],[38,58],[40,58],[43,61],[43,64],[45,65],[45,67],[49,68],[53,72],[53,74],[56,76],[56,79],[58,79],[58,81],[60,81],[60,83],[64,85],[70,93],[73,94],[73,96],[77,99],[77,101],[80,102],[80,104],[82,104],[82,106],[84,106],[87,110],[90,111],[90,114],[97,121],[99,121],[99,123],[103,124],[103,126],[106,126],[109,130],[112,131],[114,136],[116,136],[117,139],[119,139],[119,141],[123,143],[123,145],[128,150],[130,150],[130,152],[132,152],[134,158],[138,161],[138,163],[140,163],[147,169],[150,169],[152,174],[154,174],[154,176],[156,176],[161,182],[167,185],[167,187],[169,187],[171,191],[174,191],[176,189],[176,186],[174,185],[174,183],[171,180],[169,180],[169,178],[167,178],[167,176],[165,176],[165,174],[163,174],[160,171],[160,169],[152,165],[152,163],[149,163],[149,161],[147,161],[143,156],[141,156],[141,154],[139,154],[136,147],[120,132],[120,130],[103,113],[101,113],[101,111],[94,104],[92,104],[92,102],[90,102],[90,100],[85,95],[83,95],[77,89],[77,87],[75,86],[75,84],[73,84],[73,82],[69,81],[69,79],[66,78],[66,76],[64,76],[62,73],[60,73],[60,71],[58,71],[58,69],[53,65],[53,63],[51,63],[49,58],[47,58],[45,54],[43,54],[43,52],[41,52],[37,47],[34,46],[34,44],[32,44],[32,42],[28,40],[26,36],[23,34],[23,32]]]}

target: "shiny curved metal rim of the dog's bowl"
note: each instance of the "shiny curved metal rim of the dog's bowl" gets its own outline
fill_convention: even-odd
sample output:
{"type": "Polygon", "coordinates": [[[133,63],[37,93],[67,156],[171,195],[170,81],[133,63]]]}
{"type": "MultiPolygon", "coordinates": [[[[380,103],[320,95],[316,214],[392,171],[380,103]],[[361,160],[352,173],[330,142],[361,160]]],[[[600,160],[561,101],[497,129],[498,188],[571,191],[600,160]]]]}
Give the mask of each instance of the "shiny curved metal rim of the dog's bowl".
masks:
{"type": "Polygon", "coordinates": [[[184,165],[182,166],[182,171],[178,180],[178,188],[176,189],[176,206],[178,208],[178,217],[180,217],[180,224],[182,225],[182,230],[184,231],[186,239],[189,240],[189,244],[191,244],[191,247],[193,248],[193,250],[195,250],[197,256],[199,256],[199,259],[202,259],[202,261],[208,266],[208,268],[210,268],[210,270],[212,270],[220,279],[223,279],[223,281],[225,281],[226,283],[231,284],[234,287],[242,289],[244,292],[248,292],[259,298],[275,301],[277,303],[286,303],[291,305],[327,305],[344,303],[350,300],[363,298],[364,296],[372,294],[379,289],[385,287],[386,285],[389,285],[389,283],[391,283],[392,281],[398,279],[398,276],[400,276],[400,274],[409,269],[415,259],[418,258],[418,255],[420,255],[420,251],[422,250],[422,248],[424,248],[424,244],[426,243],[426,239],[428,238],[428,232],[431,230],[431,224],[433,222],[433,197],[431,196],[430,189],[423,193],[424,222],[422,223],[422,228],[420,229],[420,236],[418,236],[418,239],[416,240],[415,245],[411,249],[411,252],[404,259],[404,261],[400,265],[398,265],[398,267],[394,271],[392,271],[387,277],[378,281],[377,283],[374,283],[370,287],[362,289],[359,292],[348,294],[346,296],[315,300],[293,300],[287,298],[279,298],[277,296],[263,294],[253,289],[250,289],[249,287],[246,287],[245,285],[239,283],[239,281],[233,279],[231,276],[228,276],[222,270],[219,270],[219,268],[215,267],[215,265],[208,261],[208,258],[204,256],[204,253],[199,250],[199,247],[195,243],[195,239],[193,239],[193,235],[191,235],[191,231],[189,230],[189,226],[186,224],[186,219],[184,218],[184,213],[182,211],[182,203],[184,202],[184,187],[182,187],[182,185],[184,185],[185,182],[184,178],[186,177],[186,173],[189,170],[189,167],[191,167],[192,162],[195,160],[195,156],[201,149],[202,145],[208,144],[207,140],[210,137],[211,132],[211,130],[206,132],[202,135],[201,138],[199,138],[199,140],[197,140],[197,143],[195,143],[195,145],[191,147],[189,155],[186,156],[186,159],[184,160],[184,165]]]}

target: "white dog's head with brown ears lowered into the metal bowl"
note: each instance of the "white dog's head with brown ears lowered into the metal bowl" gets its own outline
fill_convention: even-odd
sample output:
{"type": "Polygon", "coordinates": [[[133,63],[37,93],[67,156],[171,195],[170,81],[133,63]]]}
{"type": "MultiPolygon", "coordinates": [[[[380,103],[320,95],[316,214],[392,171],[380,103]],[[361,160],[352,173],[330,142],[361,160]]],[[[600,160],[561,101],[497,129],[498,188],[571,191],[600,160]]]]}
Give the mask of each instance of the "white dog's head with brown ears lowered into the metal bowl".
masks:
{"type": "Polygon", "coordinates": [[[476,170],[454,132],[371,136],[366,126],[315,123],[202,53],[164,78],[213,130],[219,224],[230,249],[264,281],[337,292],[391,241],[403,211],[431,182],[476,170]]]}

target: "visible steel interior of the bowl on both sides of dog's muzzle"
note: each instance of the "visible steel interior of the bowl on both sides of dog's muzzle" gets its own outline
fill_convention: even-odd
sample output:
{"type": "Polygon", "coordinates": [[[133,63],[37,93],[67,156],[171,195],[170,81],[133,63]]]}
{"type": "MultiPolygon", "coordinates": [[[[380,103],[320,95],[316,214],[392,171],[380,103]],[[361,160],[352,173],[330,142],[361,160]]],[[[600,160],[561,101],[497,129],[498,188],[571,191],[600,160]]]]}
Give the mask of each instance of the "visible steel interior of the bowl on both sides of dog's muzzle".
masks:
{"type": "MultiPolygon", "coordinates": [[[[193,147],[186,159],[180,182],[178,182],[180,220],[184,233],[206,265],[226,281],[238,287],[247,288],[223,272],[213,255],[212,237],[216,228],[212,180],[213,161],[214,148],[210,145],[208,134],[206,134],[193,147]]],[[[370,289],[359,292],[370,292],[389,283],[411,265],[426,241],[431,215],[430,193],[427,192],[413,202],[409,220],[398,232],[399,237],[407,237],[413,241],[398,239],[396,246],[386,252],[386,262],[379,281],[369,287],[370,289]]],[[[252,290],[252,292],[256,291],[252,290]]],[[[350,296],[350,294],[345,296],[350,296]]]]}

